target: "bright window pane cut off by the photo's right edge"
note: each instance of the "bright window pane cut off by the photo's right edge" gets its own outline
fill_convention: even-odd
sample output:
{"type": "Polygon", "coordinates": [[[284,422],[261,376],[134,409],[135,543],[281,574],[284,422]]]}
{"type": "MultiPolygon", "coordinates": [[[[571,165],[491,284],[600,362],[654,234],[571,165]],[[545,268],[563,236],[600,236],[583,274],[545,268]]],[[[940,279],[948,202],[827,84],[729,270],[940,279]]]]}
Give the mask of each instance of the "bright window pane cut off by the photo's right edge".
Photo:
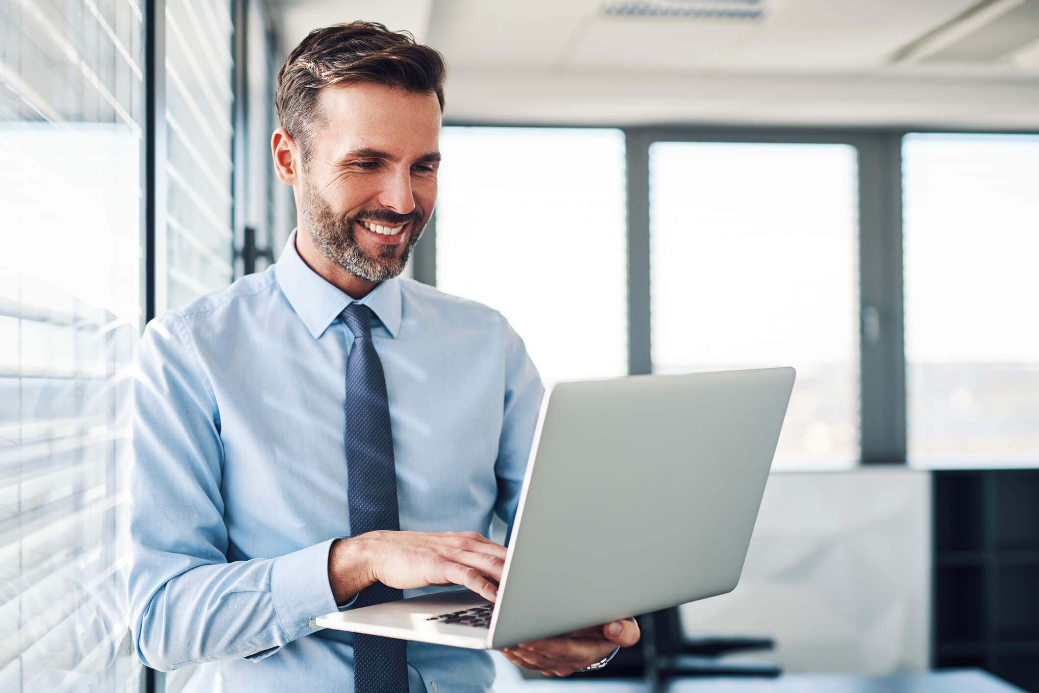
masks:
{"type": "Polygon", "coordinates": [[[903,140],[910,462],[1039,463],[1039,136],[903,140]]]}

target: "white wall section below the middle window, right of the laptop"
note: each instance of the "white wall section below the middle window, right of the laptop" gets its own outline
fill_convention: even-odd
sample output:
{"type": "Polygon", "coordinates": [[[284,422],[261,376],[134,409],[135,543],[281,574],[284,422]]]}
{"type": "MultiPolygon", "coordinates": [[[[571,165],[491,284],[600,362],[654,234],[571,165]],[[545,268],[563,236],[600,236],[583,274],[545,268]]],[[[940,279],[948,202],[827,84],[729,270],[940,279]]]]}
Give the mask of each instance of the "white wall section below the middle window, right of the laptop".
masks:
{"type": "Polygon", "coordinates": [[[785,671],[927,668],[930,475],[774,474],[740,585],[684,606],[689,635],[766,635],[785,671]]]}

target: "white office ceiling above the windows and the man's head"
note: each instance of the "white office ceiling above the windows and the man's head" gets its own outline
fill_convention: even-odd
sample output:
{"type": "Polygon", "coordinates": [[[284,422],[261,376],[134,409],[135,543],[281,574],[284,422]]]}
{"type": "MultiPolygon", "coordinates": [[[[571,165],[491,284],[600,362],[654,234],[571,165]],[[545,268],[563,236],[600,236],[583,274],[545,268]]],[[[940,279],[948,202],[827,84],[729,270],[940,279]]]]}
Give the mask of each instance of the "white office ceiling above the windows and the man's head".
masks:
{"type": "Polygon", "coordinates": [[[353,19],[411,30],[447,57],[455,122],[1039,130],[1039,0],[281,6],[287,47],[353,19]]]}

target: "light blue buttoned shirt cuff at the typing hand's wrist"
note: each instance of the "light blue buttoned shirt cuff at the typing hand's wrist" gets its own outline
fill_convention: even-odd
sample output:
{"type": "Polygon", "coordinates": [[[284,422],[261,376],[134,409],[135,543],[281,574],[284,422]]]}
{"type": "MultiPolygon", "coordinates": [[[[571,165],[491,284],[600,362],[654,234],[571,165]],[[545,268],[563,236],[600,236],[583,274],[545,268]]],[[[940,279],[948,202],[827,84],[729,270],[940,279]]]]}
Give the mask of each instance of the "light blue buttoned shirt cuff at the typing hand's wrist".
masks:
{"type": "Polygon", "coordinates": [[[270,593],[289,640],[311,630],[311,619],[340,610],[328,584],[328,552],[335,538],[274,560],[270,593]]]}

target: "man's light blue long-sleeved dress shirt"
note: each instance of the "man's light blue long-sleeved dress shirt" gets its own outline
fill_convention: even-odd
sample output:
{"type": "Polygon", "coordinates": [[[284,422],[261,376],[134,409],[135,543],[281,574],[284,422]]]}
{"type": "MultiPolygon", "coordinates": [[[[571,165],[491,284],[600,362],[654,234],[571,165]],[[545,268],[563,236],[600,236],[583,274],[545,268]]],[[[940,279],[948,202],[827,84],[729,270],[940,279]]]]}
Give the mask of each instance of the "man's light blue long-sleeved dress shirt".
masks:
{"type": "MultiPolygon", "coordinates": [[[[344,439],[351,298],[300,259],[152,321],[134,379],[130,621],[187,691],[353,690],[328,549],[350,531],[344,439]]],[[[359,301],[385,373],[401,530],[511,527],[543,395],[489,308],[411,279],[359,301]]],[[[405,590],[414,596],[438,588],[405,590]]],[[[344,607],[344,608],[348,608],[344,607]]],[[[485,651],[409,642],[410,693],[486,691],[485,651]]]]}

